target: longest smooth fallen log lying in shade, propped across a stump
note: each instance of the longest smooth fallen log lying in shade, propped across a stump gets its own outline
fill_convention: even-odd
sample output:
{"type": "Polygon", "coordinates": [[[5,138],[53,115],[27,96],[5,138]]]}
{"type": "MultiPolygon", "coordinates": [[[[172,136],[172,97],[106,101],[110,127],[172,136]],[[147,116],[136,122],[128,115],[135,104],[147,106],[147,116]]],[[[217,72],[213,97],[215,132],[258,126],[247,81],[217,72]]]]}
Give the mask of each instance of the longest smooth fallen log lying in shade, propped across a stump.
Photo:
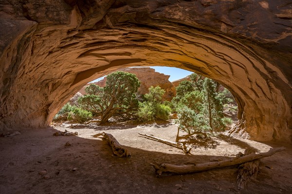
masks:
{"type": "Polygon", "coordinates": [[[242,156],[240,158],[232,158],[229,160],[224,160],[220,162],[207,162],[207,163],[202,163],[198,165],[173,165],[173,164],[168,164],[168,163],[151,163],[157,173],[158,176],[161,176],[162,173],[172,173],[172,174],[187,174],[187,173],[196,173],[196,172],[201,172],[201,171],[206,171],[206,170],[211,170],[211,169],[218,169],[218,168],[224,168],[228,166],[233,166],[237,164],[242,164],[245,162],[251,162],[254,160],[258,160],[261,158],[265,158],[268,156],[272,156],[274,153],[278,151],[283,151],[285,150],[285,147],[278,147],[278,148],[271,148],[268,152],[264,153],[252,153],[246,156],[242,156]]]}

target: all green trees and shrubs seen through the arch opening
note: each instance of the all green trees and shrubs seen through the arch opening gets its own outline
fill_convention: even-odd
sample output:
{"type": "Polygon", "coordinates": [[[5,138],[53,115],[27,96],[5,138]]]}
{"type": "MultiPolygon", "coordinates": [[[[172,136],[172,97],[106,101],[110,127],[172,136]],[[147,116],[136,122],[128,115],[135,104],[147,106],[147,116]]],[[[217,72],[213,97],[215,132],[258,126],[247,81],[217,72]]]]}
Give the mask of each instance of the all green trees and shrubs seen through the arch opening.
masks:
{"type": "Polygon", "coordinates": [[[128,72],[117,71],[107,76],[106,85],[90,84],[86,95],[79,97],[77,105],[67,103],[55,115],[54,122],[109,123],[109,119],[137,123],[168,121],[171,114],[177,115],[176,142],[192,135],[208,137],[214,132],[227,129],[233,120],[223,114],[224,110],[237,112],[232,94],[218,82],[191,74],[176,87],[176,96],[171,101],[163,99],[165,93],[160,86],[151,86],[149,92],[138,92],[140,81],[128,72]],[[187,135],[179,136],[180,131],[187,135]]]}

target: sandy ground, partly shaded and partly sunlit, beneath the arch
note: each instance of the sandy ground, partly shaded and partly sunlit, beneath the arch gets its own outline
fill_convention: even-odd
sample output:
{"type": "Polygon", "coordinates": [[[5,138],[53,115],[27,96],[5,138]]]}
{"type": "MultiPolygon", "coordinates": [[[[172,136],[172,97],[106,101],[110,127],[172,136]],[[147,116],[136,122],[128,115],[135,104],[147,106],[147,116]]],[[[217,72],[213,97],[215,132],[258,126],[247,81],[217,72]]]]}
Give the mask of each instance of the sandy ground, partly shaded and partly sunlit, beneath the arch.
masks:
{"type": "Polygon", "coordinates": [[[138,132],[174,141],[177,126],[110,126],[70,124],[46,129],[19,130],[21,135],[0,138],[0,194],[291,194],[292,145],[229,138],[194,141],[191,155],[172,146],[141,137],[138,132]],[[75,126],[75,125],[73,125],[75,126]],[[53,136],[57,130],[78,136],[53,136]],[[131,152],[130,158],[112,155],[106,141],[91,135],[111,133],[131,152]],[[70,142],[71,146],[65,146],[70,142]],[[155,176],[149,163],[193,164],[235,157],[254,147],[265,152],[285,146],[286,151],[261,160],[255,181],[237,190],[237,168],[187,175],[155,176]],[[267,168],[270,166],[273,169],[267,168]],[[75,171],[73,171],[73,168],[75,171]],[[39,172],[46,170],[47,174],[39,172]],[[48,176],[49,175],[49,176],[48,176]],[[48,178],[48,179],[45,179],[48,178]]]}

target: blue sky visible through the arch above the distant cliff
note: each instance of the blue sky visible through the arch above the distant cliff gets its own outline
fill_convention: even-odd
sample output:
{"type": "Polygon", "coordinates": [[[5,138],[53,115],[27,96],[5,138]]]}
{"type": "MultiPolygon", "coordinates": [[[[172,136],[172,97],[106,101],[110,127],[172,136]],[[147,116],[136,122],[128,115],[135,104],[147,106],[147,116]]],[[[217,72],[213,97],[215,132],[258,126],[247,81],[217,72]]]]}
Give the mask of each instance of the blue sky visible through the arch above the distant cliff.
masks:
{"type": "MultiPolygon", "coordinates": [[[[168,79],[169,81],[179,80],[193,73],[191,71],[187,71],[187,70],[176,68],[176,67],[166,67],[166,66],[149,66],[149,67],[155,69],[156,72],[169,75],[170,76],[168,79]]],[[[99,81],[101,79],[102,78],[98,78],[91,82],[99,81]]]]}

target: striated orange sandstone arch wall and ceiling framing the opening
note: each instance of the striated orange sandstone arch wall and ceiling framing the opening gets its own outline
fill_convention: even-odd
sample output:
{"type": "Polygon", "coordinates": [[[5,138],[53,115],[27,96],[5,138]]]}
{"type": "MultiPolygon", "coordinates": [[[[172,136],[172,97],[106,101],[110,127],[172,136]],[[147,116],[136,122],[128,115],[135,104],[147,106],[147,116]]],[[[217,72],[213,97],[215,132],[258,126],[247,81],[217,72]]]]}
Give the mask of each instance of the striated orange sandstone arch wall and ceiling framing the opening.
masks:
{"type": "Polygon", "coordinates": [[[291,140],[290,0],[3,0],[0,126],[48,126],[86,83],[175,66],[237,99],[233,135],[291,140]]]}

